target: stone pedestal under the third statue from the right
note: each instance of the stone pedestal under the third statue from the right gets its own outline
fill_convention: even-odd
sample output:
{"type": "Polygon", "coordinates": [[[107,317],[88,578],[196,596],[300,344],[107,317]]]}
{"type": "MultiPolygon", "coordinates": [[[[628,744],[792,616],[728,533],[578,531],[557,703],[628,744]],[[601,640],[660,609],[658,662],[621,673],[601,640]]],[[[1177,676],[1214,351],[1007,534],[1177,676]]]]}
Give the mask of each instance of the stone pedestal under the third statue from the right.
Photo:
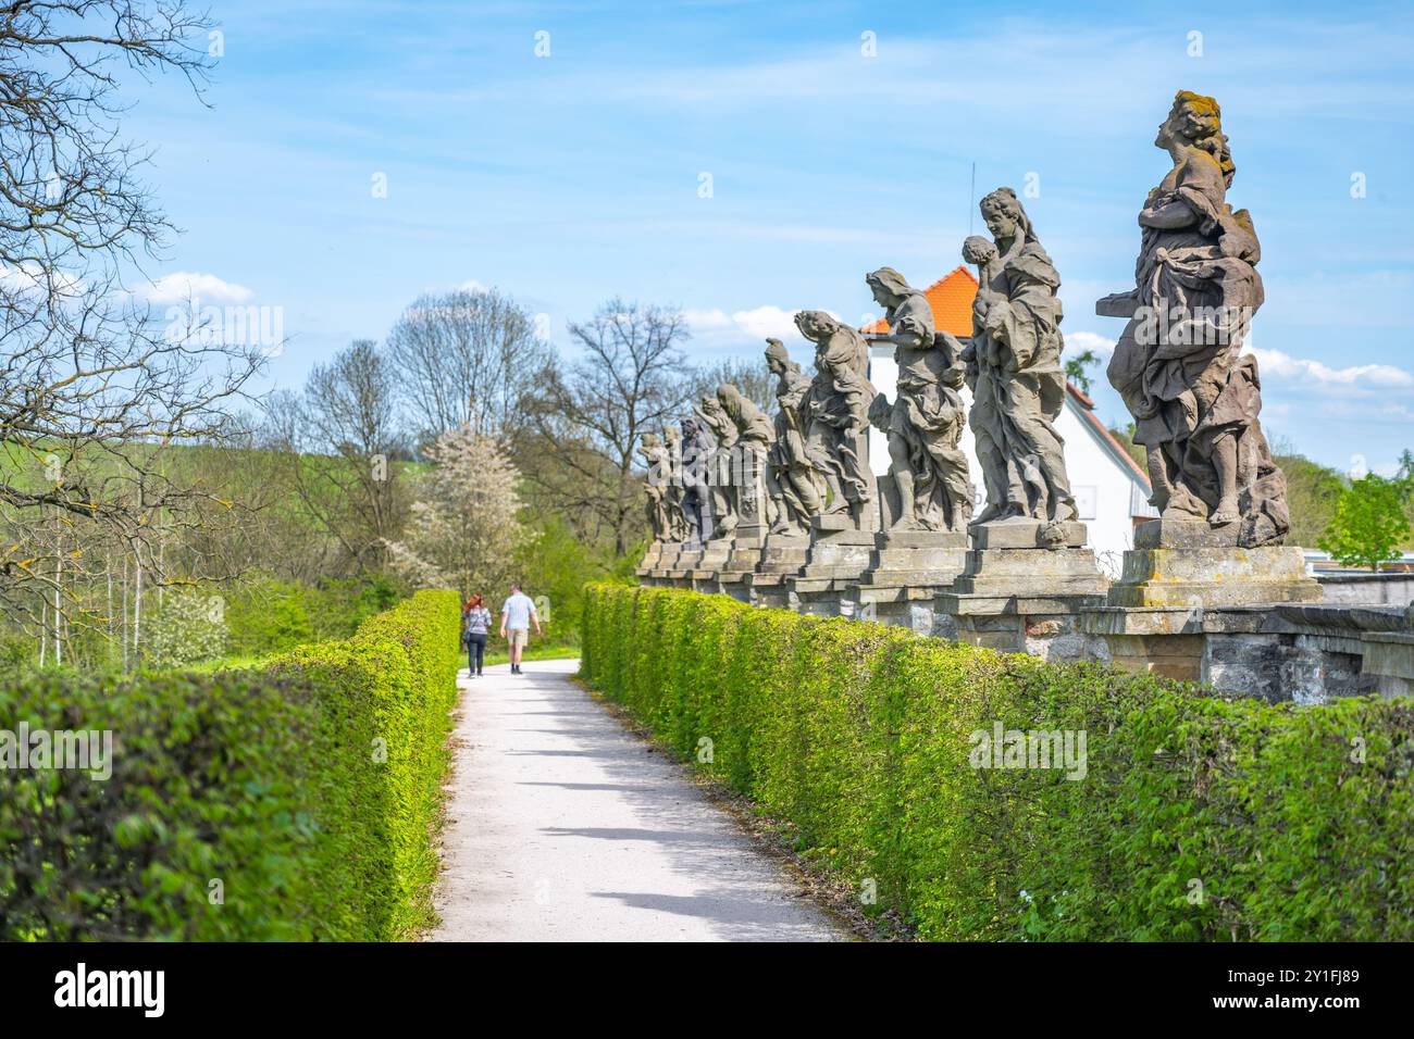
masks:
{"type": "Polygon", "coordinates": [[[933,601],[967,563],[967,534],[946,530],[889,530],[874,536],[870,567],[846,589],[863,621],[932,635],[933,601]]]}

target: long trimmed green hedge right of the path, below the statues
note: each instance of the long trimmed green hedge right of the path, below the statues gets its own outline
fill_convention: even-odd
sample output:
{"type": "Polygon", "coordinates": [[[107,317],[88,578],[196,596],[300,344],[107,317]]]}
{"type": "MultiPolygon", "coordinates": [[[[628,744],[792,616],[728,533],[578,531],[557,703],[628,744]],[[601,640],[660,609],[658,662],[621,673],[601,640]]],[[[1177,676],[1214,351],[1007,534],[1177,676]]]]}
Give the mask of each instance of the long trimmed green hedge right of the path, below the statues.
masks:
{"type": "Polygon", "coordinates": [[[590,587],[584,633],[591,686],[925,939],[1414,939],[1414,701],[1219,698],[662,588],[590,587]],[[997,722],[1083,731],[1085,777],[973,768],[997,722]]]}

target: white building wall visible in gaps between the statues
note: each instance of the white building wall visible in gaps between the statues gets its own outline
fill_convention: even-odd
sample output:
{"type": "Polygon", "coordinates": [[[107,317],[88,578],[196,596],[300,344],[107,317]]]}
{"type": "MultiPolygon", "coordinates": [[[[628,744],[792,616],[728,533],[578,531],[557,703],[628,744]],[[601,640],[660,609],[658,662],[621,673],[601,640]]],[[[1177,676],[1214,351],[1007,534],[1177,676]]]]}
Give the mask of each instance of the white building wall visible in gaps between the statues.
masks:
{"type": "MultiPolygon", "coordinates": [[[[898,365],[894,362],[892,348],[871,351],[870,382],[889,400],[895,397],[898,365]]],[[[970,409],[971,394],[966,389],[963,400],[970,409]]],[[[1124,550],[1134,547],[1134,493],[1138,483],[1090,433],[1082,417],[1082,406],[1069,394],[1056,420],[1056,430],[1065,438],[1066,472],[1070,474],[1070,488],[1089,532],[1089,546],[1100,567],[1110,577],[1118,577],[1124,550]]],[[[986,491],[970,428],[963,431],[963,451],[971,472],[974,512],[981,512],[986,491]]],[[[878,430],[870,430],[870,465],[875,475],[888,472],[888,437],[878,430]]]]}

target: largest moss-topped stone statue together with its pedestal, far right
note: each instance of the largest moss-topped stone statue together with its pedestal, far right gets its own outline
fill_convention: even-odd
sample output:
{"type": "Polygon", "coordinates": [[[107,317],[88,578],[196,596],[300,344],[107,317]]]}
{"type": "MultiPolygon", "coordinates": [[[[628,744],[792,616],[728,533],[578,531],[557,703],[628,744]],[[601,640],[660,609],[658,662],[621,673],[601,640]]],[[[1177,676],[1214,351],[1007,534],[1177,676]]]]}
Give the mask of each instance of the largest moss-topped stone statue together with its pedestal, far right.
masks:
{"type": "Polygon", "coordinates": [[[1128,318],[1109,377],[1161,509],[1135,527],[1124,577],[1090,622],[1116,657],[1186,635],[1200,608],[1321,598],[1301,548],[1281,547],[1287,481],[1257,418],[1257,359],[1241,352],[1263,301],[1261,247],[1247,211],[1227,204],[1234,167],[1217,102],[1181,90],[1154,144],[1172,167],[1140,211],[1135,286],[1094,308],[1128,318]]]}

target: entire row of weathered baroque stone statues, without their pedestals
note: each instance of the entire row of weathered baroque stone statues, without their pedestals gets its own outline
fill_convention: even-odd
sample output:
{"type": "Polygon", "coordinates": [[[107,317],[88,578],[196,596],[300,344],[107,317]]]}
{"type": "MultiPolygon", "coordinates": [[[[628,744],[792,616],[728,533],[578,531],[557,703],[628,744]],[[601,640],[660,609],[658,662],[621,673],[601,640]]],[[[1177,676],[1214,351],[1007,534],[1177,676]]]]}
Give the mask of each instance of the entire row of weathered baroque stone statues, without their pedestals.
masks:
{"type": "MultiPolygon", "coordinates": [[[[1165,520],[1205,522],[1246,547],[1280,543],[1290,527],[1285,481],[1258,421],[1256,358],[1241,352],[1263,301],[1260,246],[1247,211],[1226,201],[1234,167],[1217,103],[1181,92],[1155,144],[1172,168],[1138,216],[1135,287],[1097,304],[1102,315],[1128,318],[1107,375],[1148,451],[1165,520]]],[[[882,334],[800,311],[795,324],[814,346],[814,370],[766,339],[773,417],[725,383],[680,430],[643,438],[656,540],[700,544],[741,524],[785,537],[812,526],[871,529],[871,427],[887,438],[898,491],[892,530],[1039,522],[1059,532],[1077,519],[1056,428],[1066,396],[1060,277],[1015,191],[997,188],[978,208],[988,236],[962,247],[977,270],[971,335],[939,329],[926,295],[892,267],[865,276],[884,308],[882,334]],[[894,348],[892,400],[870,383],[871,342],[894,348]],[[986,489],[977,516],[964,421],[986,489]]]]}

